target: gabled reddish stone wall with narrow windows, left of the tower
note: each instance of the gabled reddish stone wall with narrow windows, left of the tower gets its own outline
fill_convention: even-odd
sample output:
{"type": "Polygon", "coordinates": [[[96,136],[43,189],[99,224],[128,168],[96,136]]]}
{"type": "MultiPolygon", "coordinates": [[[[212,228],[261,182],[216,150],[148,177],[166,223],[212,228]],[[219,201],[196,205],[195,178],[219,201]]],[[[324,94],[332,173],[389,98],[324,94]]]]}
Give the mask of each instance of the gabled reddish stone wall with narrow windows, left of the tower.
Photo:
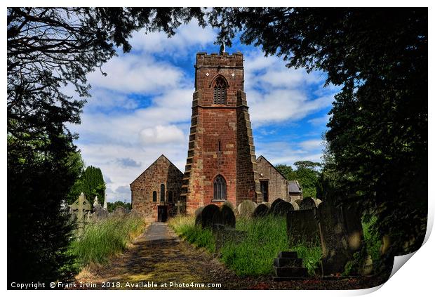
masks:
{"type": "Polygon", "coordinates": [[[175,214],[175,203],[180,199],[182,172],[172,164],[163,154],[156,159],[130,185],[131,206],[138,211],[145,220],[157,220],[157,207],[168,207],[168,217],[175,214]],[[164,202],[161,202],[161,185],[165,185],[164,202]],[[153,202],[153,192],[156,191],[156,202],[153,202]],[[169,192],[173,193],[173,201],[169,202],[169,192]]]}

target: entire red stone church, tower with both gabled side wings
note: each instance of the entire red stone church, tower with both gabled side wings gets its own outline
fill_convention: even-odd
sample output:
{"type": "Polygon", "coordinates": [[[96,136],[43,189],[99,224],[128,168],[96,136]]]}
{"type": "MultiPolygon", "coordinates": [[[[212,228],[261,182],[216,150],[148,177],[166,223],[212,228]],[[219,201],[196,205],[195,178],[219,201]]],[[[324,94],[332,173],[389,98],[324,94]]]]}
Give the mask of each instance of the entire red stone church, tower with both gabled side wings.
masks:
{"type": "Polygon", "coordinates": [[[290,200],[288,180],[255,157],[243,82],[241,53],[196,54],[185,172],[161,155],[130,185],[132,208],[147,220],[192,214],[211,203],[290,200]]]}

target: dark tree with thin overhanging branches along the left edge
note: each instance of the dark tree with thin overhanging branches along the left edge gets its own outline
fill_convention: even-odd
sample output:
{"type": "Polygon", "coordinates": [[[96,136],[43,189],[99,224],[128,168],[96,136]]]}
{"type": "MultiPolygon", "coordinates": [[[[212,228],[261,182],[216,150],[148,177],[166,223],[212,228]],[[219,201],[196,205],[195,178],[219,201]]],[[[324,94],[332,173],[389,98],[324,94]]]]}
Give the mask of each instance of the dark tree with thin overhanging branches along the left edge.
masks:
{"type": "Polygon", "coordinates": [[[86,74],[130,51],[140,28],[171,36],[199,8],[8,8],[8,283],[72,277],[65,251],[71,238],[60,204],[76,178],[79,159],[65,124],[80,124],[89,96],[86,74]]]}

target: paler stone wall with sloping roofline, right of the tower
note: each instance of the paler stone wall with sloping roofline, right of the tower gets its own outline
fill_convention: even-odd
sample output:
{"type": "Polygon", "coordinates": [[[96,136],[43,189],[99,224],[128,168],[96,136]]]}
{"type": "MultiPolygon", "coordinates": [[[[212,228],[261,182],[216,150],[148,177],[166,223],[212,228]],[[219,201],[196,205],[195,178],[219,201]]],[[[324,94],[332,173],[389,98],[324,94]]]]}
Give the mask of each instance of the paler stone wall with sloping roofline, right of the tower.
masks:
{"type": "Polygon", "coordinates": [[[257,159],[257,171],[260,174],[260,181],[267,180],[269,183],[270,203],[274,202],[278,198],[290,202],[290,197],[288,195],[288,181],[263,156],[260,156],[257,159]]]}

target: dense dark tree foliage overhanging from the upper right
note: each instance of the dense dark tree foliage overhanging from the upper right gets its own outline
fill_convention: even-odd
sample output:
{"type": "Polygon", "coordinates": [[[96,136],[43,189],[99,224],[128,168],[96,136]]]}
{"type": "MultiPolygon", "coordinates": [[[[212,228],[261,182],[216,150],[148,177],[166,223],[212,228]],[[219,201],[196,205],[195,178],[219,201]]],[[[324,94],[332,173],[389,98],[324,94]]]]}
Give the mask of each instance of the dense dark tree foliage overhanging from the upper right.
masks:
{"type": "Polygon", "coordinates": [[[415,251],[427,219],[427,8],[216,8],[219,41],[326,72],[335,198],[359,198],[394,253],[415,251]]]}

